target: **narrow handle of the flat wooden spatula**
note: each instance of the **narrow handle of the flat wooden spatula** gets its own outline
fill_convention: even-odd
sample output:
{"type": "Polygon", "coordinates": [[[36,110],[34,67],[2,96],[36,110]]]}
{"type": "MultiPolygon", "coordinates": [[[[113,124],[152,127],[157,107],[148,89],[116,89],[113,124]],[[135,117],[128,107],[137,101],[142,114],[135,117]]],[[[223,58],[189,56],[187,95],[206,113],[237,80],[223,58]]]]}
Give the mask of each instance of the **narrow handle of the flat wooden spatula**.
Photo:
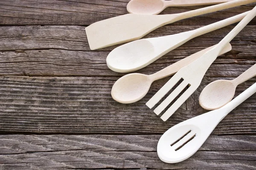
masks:
{"type": "MultiPolygon", "coordinates": [[[[256,2],[256,0],[233,0],[233,1],[230,1],[227,3],[221,3],[218,5],[208,6],[205,8],[200,8],[200,9],[183,12],[183,13],[179,13],[179,14],[175,14],[175,15],[178,16],[177,20],[183,20],[186,18],[195,17],[195,16],[202,15],[202,14],[208,14],[211,12],[220,11],[220,10],[227,9],[227,8],[233,8],[236,6],[241,6],[241,5],[245,5],[245,4],[253,3],[253,2],[256,2]]],[[[172,16],[172,15],[173,14],[170,14],[170,16],[172,16]]]]}

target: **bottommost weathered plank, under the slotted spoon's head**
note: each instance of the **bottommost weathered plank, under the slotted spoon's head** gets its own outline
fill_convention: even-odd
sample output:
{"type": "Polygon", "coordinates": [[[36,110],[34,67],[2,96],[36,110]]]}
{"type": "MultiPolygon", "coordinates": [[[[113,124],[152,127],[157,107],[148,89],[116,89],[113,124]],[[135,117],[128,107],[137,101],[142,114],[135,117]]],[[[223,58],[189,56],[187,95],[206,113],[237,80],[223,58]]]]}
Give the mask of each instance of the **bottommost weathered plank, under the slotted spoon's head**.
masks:
{"type": "Polygon", "coordinates": [[[160,135],[1,135],[0,169],[244,169],[256,168],[256,136],[209,136],[189,159],[166,164],[160,135]]]}

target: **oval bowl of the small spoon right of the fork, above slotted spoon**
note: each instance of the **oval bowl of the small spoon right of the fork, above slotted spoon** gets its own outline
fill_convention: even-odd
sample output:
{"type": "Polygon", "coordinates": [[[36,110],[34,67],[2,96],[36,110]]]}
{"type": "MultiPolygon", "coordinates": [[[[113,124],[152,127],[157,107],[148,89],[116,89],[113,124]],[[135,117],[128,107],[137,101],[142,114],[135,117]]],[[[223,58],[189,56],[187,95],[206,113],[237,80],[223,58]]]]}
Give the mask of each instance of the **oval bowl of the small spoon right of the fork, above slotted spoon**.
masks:
{"type": "Polygon", "coordinates": [[[211,82],[202,91],[199,104],[206,110],[215,110],[230,102],[236,91],[236,85],[232,80],[217,80],[211,82]]]}

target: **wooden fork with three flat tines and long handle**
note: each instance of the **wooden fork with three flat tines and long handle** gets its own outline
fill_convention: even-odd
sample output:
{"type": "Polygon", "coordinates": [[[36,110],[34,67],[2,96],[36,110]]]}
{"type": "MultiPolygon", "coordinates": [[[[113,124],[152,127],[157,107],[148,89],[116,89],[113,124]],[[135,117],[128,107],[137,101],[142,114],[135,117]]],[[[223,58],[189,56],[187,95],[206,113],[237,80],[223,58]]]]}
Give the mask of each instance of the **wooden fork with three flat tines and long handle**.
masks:
{"type": "Polygon", "coordinates": [[[175,88],[174,91],[155,108],[154,113],[160,114],[168,105],[180,94],[183,89],[189,85],[189,88],[172,104],[172,106],[161,116],[163,121],[169,119],[170,116],[182,105],[189,96],[198,88],[204,74],[208,70],[212,62],[218,57],[220,51],[226,46],[249,22],[256,16],[256,7],[254,7],[249,14],[235,27],[221,42],[214,48],[207,51],[200,58],[196,59],[191,64],[181,68],[147,103],[149,108],[152,108],[163,96],[169,92],[172,87],[183,79],[183,81],[175,88]]]}

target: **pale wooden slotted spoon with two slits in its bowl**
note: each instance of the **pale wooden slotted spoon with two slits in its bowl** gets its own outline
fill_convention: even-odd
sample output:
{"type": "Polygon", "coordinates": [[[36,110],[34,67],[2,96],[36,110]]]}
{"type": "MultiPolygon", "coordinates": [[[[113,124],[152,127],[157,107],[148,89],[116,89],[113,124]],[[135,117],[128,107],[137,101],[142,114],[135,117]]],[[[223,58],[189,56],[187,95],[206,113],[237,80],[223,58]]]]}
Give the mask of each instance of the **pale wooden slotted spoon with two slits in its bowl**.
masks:
{"type": "Polygon", "coordinates": [[[192,156],[218,123],[255,92],[256,83],[224,107],[188,119],[167,130],[157,144],[159,158],[167,163],[176,163],[192,156]]]}

